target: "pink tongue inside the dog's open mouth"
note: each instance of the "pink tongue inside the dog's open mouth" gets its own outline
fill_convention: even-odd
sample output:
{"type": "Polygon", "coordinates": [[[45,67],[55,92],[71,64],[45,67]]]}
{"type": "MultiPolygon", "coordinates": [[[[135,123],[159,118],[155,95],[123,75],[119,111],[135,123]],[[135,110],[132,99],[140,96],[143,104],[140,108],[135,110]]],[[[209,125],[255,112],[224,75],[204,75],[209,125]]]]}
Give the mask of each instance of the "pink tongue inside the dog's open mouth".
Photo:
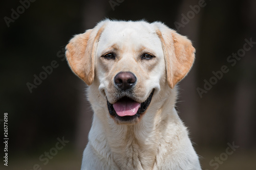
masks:
{"type": "Polygon", "coordinates": [[[137,113],[140,103],[137,102],[116,102],[113,107],[118,116],[133,116],[137,113]]]}

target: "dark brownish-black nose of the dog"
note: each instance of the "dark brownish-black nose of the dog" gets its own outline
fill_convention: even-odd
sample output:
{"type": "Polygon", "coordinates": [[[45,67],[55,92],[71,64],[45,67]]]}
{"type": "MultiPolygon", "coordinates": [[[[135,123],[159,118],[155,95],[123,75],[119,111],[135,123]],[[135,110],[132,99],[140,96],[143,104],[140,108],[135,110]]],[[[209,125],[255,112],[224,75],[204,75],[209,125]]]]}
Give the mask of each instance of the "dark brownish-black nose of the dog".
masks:
{"type": "Polygon", "coordinates": [[[137,78],[132,72],[119,72],[115,78],[114,82],[121,90],[126,90],[131,88],[137,81],[137,78]]]}

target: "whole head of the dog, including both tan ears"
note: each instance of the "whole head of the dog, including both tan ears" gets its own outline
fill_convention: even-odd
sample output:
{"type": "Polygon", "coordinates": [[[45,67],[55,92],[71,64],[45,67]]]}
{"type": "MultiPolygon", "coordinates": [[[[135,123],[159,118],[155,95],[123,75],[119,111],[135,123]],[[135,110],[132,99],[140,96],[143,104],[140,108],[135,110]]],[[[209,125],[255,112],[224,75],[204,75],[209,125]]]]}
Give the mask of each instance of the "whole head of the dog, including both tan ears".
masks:
{"type": "Polygon", "coordinates": [[[160,22],[104,20],[66,49],[71,69],[97,86],[119,124],[139,122],[160,89],[174,88],[195,58],[191,42],[160,22]]]}

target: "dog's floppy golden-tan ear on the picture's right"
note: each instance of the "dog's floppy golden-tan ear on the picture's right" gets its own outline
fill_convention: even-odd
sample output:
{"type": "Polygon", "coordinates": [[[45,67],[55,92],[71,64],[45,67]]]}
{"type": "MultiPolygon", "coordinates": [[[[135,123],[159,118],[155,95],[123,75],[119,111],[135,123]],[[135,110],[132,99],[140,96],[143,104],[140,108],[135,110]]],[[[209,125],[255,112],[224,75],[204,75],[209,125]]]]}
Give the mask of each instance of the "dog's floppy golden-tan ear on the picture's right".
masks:
{"type": "Polygon", "coordinates": [[[170,88],[181,81],[189,72],[195,60],[195,48],[191,41],[176,31],[169,29],[163,23],[157,25],[157,34],[161,39],[167,82],[170,88]]]}

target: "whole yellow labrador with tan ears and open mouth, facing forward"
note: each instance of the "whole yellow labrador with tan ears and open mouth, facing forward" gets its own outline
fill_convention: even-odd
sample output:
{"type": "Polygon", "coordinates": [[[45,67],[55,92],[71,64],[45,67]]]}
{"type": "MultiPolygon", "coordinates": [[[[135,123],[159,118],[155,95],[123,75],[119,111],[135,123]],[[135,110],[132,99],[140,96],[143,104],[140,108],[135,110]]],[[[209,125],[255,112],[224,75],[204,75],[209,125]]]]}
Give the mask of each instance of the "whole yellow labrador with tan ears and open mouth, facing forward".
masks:
{"type": "Polygon", "coordinates": [[[201,169],[175,110],[195,48],[161,22],[104,20],[66,47],[94,110],[82,170],[201,169]]]}

